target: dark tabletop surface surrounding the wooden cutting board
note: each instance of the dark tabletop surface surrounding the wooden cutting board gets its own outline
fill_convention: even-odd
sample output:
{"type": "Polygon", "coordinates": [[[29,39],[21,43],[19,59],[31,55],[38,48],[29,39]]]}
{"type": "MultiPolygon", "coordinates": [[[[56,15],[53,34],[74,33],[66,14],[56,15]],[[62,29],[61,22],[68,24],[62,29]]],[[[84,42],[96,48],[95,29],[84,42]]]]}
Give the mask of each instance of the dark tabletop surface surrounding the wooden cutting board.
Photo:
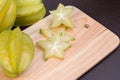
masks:
{"type": "MultiPolygon", "coordinates": [[[[73,5],[106,26],[120,38],[120,0],[43,0],[48,10],[59,3],[73,5]]],[[[120,80],[120,47],[78,80],[120,80]]]]}

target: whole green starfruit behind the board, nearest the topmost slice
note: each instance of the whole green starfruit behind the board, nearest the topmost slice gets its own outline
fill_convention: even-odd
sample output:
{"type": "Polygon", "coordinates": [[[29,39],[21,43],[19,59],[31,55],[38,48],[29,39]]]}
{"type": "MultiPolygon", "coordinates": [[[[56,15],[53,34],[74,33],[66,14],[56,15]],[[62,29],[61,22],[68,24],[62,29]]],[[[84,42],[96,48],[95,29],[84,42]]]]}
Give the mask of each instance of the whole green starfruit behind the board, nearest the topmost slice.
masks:
{"type": "Polygon", "coordinates": [[[42,0],[15,0],[17,17],[15,25],[29,26],[45,16],[46,9],[42,0]]]}

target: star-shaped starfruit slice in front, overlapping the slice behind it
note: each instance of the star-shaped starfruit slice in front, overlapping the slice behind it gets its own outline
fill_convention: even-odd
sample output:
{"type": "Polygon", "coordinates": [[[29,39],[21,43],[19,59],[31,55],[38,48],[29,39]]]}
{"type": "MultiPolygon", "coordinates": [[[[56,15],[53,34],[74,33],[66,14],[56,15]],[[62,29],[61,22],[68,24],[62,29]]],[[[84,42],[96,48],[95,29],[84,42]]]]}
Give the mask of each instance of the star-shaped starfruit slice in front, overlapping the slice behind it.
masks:
{"type": "Polygon", "coordinates": [[[48,60],[52,57],[57,59],[64,58],[64,52],[71,47],[71,45],[61,39],[62,34],[55,35],[46,40],[37,42],[37,46],[44,50],[44,59],[48,60]]]}

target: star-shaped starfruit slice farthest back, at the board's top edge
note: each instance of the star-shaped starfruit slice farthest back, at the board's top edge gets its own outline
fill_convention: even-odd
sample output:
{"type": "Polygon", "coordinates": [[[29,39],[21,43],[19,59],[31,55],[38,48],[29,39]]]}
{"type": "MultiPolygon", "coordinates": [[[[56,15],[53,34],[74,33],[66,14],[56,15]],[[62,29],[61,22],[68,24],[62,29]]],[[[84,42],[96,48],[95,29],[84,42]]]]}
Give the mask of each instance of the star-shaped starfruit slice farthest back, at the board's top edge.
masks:
{"type": "Polygon", "coordinates": [[[71,21],[71,13],[73,12],[73,8],[66,8],[63,4],[59,4],[56,10],[50,11],[50,14],[53,17],[52,24],[50,28],[58,27],[61,24],[73,28],[73,24],[71,21]]]}

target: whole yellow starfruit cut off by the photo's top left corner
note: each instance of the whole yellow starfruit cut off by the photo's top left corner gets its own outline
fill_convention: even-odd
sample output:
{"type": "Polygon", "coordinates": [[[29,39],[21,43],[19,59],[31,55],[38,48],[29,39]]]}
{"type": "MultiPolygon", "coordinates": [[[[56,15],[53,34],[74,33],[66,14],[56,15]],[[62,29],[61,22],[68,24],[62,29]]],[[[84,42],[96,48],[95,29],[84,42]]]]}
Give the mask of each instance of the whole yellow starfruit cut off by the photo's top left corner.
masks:
{"type": "Polygon", "coordinates": [[[16,3],[13,0],[0,0],[0,32],[11,29],[16,18],[16,3]]]}

